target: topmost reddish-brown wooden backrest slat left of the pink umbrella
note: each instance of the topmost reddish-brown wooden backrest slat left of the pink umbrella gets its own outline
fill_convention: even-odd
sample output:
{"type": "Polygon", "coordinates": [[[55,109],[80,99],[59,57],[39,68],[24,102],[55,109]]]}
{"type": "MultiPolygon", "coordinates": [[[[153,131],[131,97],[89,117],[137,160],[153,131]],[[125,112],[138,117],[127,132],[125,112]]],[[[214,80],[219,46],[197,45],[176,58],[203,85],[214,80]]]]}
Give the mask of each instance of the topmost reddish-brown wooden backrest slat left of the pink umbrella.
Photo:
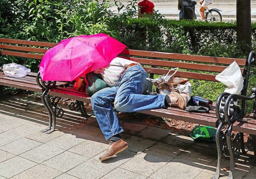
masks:
{"type": "Polygon", "coordinates": [[[30,46],[41,46],[41,47],[54,47],[57,44],[51,42],[37,42],[37,41],[30,41],[30,40],[16,40],[16,39],[6,39],[0,38],[0,42],[8,43],[8,44],[20,44],[20,45],[30,45],[30,46]]]}

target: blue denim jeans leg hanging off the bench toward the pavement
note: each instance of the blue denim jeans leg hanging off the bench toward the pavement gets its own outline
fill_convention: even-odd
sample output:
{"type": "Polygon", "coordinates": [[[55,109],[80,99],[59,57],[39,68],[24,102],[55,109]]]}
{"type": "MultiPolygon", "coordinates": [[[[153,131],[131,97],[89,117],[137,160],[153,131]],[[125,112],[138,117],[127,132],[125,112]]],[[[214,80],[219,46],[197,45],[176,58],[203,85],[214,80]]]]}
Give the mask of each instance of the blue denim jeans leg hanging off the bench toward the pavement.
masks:
{"type": "Polygon", "coordinates": [[[105,139],[124,131],[111,105],[117,90],[117,86],[104,88],[91,97],[92,109],[105,139]]]}

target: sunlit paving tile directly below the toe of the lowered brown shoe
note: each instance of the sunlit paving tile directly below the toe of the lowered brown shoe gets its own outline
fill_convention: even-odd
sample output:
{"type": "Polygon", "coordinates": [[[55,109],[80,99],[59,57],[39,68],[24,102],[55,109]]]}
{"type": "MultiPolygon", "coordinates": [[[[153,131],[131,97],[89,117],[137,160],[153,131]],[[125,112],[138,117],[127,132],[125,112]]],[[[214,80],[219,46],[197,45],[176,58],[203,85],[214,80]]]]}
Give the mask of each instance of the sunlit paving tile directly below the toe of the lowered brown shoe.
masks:
{"type": "Polygon", "coordinates": [[[90,159],[78,165],[67,173],[80,179],[98,179],[113,171],[116,167],[110,164],[90,159]]]}

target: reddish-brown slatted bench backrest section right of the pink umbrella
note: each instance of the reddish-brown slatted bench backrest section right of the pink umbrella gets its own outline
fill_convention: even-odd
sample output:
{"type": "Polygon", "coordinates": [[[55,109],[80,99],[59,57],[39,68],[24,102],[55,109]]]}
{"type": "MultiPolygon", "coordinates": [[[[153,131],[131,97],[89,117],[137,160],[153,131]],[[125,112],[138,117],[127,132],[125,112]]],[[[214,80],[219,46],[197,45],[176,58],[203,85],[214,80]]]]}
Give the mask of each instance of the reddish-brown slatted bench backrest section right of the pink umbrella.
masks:
{"type": "MultiPolygon", "coordinates": [[[[246,74],[246,59],[140,50],[123,50],[120,54],[125,55],[125,58],[129,60],[140,62],[145,65],[145,70],[149,74],[167,74],[171,68],[178,67],[179,71],[175,74],[177,77],[217,82],[215,76],[234,61],[241,66],[240,69],[242,74],[246,74]]],[[[152,78],[152,75],[150,78],[152,78]]]]}

